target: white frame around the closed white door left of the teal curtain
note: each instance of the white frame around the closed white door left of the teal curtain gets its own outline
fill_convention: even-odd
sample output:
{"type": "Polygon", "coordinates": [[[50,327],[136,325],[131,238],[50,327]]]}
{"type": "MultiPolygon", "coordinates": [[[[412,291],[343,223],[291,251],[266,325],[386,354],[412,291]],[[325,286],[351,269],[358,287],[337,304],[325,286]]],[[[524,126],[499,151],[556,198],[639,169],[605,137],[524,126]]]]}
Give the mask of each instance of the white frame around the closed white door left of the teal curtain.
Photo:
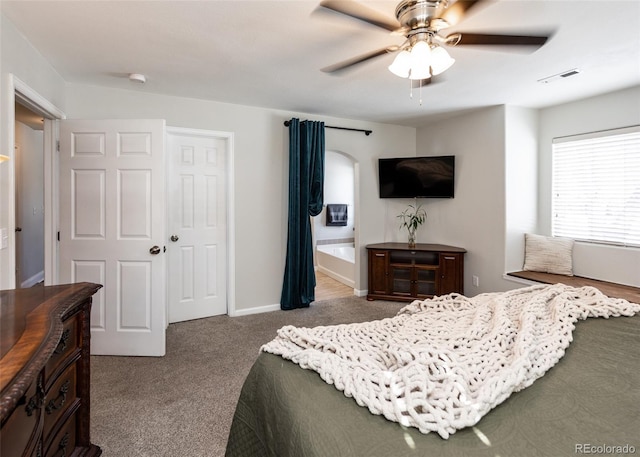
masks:
{"type": "MultiPolygon", "coordinates": [[[[190,135],[190,136],[202,136],[207,138],[223,138],[227,140],[227,150],[225,151],[225,173],[226,173],[226,185],[225,185],[225,198],[226,198],[226,207],[227,207],[227,315],[234,317],[236,316],[236,259],[235,259],[235,195],[233,193],[234,189],[234,134],[233,132],[221,132],[217,130],[203,130],[203,129],[192,129],[192,128],[183,128],[183,127],[172,127],[167,126],[165,129],[165,144],[168,144],[169,135],[190,135]]],[[[171,170],[171,158],[170,153],[167,151],[165,154],[165,169],[167,170],[166,181],[169,182],[171,170]]],[[[169,225],[170,214],[170,198],[167,198],[166,201],[167,210],[167,220],[166,225],[169,225]]],[[[171,262],[171,258],[167,260],[167,262],[171,262]]],[[[169,297],[169,281],[166,282],[167,290],[165,291],[166,296],[169,297]]],[[[166,321],[167,325],[169,322],[169,304],[166,306],[166,321]]]]}

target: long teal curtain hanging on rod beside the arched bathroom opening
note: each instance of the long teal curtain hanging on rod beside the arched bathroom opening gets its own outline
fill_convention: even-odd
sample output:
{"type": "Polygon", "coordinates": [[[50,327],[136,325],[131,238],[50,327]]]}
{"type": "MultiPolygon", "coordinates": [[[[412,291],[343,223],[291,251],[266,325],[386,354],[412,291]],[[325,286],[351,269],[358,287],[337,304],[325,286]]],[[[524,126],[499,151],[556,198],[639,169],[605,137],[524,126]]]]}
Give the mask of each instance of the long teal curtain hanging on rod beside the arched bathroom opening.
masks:
{"type": "Polygon", "coordinates": [[[324,122],[289,122],[289,224],[280,307],[306,308],[315,300],[309,216],[322,211],[324,122]]]}

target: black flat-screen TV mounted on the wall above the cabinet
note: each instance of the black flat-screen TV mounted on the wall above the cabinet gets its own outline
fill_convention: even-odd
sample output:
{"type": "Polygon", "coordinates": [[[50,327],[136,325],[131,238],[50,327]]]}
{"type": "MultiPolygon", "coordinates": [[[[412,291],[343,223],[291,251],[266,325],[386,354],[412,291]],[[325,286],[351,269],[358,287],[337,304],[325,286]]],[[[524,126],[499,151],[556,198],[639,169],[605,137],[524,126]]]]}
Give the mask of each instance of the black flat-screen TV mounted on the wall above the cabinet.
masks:
{"type": "Polygon", "coordinates": [[[378,160],[380,198],[453,198],[455,156],[378,160]]]}

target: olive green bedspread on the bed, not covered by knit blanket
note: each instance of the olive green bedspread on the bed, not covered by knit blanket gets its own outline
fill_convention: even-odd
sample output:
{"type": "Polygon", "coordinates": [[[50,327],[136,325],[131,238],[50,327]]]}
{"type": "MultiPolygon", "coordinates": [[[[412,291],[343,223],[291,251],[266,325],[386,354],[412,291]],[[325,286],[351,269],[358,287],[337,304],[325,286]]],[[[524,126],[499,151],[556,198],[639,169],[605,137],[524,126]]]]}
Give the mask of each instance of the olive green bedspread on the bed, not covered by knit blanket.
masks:
{"type": "Polygon", "coordinates": [[[575,325],[564,356],[475,425],[443,439],[356,404],[312,370],[262,352],[227,457],[574,456],[640,450],[640,315],[575,325]]]}

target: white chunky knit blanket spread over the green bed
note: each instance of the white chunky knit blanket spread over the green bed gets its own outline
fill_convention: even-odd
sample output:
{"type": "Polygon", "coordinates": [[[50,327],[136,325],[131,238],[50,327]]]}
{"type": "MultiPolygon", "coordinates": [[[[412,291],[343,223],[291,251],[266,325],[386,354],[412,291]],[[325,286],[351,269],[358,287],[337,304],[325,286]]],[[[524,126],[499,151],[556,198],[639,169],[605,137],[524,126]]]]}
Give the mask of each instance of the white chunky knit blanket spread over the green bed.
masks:
{"type": "Polygon", "coordinates": [[[262,351],[317,371],[373,414],[446,439],[543,376],[576,321],[637,312],[593,287],[562,284],[451,294],[379,321],[285,326],[262,351]]]}

